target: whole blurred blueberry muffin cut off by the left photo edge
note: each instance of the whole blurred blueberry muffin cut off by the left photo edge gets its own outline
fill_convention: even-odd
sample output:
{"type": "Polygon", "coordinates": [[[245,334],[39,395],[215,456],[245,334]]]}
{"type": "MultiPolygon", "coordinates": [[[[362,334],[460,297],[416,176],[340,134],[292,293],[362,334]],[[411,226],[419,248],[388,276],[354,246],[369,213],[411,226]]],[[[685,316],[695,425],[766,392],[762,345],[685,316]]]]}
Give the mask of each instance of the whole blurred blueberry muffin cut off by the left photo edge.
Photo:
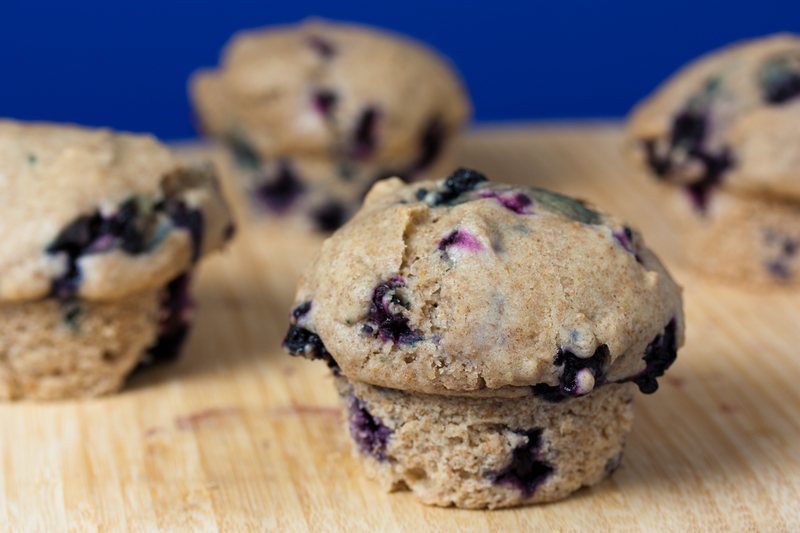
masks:
{"type": "Polygon", "coordinates": [[[95,396],[174,357],[233,232],[210,167],[149,136],[0,121],[0,398],[95,396]]]}

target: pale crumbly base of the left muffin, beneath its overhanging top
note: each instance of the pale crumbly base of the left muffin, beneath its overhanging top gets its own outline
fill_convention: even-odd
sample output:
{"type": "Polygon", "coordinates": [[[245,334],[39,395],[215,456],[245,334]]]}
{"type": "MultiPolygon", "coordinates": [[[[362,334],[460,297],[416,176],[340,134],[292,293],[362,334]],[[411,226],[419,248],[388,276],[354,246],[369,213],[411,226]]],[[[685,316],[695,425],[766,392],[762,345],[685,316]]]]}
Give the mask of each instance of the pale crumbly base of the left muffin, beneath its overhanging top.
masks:
{"type": "Polygon", "coordinates": [[[163,294],[0,305],[0,400],[81,398],[118,390],[162,333],[163,294]]]}

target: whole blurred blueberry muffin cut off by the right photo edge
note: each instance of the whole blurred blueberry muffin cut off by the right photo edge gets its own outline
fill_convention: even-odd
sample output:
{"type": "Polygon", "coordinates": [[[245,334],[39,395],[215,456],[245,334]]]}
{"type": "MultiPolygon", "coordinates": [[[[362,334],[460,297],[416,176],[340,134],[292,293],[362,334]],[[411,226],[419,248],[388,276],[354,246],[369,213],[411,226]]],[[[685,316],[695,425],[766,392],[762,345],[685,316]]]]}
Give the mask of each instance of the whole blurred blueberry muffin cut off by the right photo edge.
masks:
{"type": "Polygon", "coordinates": [[[800,37],[700,58],[639,104],[637,165],[660,181],[689,259],[762,284],[800,281],[800,37]]]}

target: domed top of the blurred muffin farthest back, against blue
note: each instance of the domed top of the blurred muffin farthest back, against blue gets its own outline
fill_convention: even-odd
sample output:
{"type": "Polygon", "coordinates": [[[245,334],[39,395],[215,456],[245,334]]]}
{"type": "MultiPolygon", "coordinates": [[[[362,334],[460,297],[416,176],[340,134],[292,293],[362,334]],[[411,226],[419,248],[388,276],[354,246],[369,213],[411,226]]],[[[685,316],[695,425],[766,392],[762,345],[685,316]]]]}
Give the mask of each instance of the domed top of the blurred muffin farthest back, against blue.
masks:
{"type": "Polygon", "coordinates": [[[461,82],[433,50],[322,20],[235,35],[220,68],[190,88],[205,131],[264,158],[424,158],[469,115],[461,82]]]}

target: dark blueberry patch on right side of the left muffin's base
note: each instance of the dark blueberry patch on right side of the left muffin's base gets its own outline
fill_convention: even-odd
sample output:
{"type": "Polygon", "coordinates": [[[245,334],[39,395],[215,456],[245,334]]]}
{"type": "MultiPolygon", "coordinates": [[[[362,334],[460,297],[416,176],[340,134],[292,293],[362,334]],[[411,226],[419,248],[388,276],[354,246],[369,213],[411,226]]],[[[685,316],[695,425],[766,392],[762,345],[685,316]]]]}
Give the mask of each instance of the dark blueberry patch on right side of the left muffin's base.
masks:
{"type": "Polygon", "coordinates": [[[189,292],[190,284],[190,274],[178,276],[167,284],[161,295],[158,338],[147,349],[141,365],[169,362],[178,357],[191,327],[194,302],[189,292]]]}

